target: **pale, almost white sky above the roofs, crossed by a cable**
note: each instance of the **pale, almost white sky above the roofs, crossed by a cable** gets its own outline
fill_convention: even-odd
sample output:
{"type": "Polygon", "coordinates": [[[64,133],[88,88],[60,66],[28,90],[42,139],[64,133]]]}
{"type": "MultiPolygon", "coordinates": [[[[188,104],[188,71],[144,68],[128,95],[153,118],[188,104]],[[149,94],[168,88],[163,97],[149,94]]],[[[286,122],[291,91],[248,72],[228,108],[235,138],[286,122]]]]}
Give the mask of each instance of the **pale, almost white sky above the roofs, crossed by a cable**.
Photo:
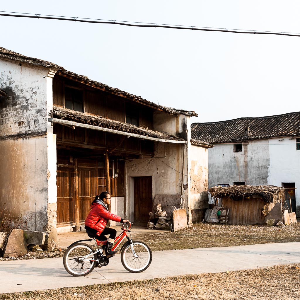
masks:
{"type": "MultiPolygon", "coordinates": [[[[1,1],[1,11],[300,33],[299,1],[1,1]]],[[[192,122],[300,111],[300,37],[0,16],[0,46],[192,110],[192,122]]]]}

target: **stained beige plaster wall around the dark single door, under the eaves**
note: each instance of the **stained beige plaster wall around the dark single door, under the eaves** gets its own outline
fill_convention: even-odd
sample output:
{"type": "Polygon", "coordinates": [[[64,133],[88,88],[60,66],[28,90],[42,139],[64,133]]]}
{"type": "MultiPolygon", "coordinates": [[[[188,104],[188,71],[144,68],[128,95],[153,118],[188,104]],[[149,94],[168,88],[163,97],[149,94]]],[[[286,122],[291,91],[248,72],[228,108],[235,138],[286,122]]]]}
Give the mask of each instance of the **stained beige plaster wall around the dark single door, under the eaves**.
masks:
{"type": "MultiPolygon", "coordinates": [[[[133,177],[152,176],[152,199],[156,194],[181,193],[182,151],[184,144],[155,143],[155,158],[134,159],[126,161],[126,217],[134,219],[133,177]]],[[[186,152],[185,152],[186,153],[186,152]]],[[[186,155],[185,155],[186,157],[186,155]]],[[[187,161],[184,164],[187,175],[187,161]]],[[[184,184],[187,184],[184,176],[184,184]]],[[[187,199],[187,191],[184,191],[187,199]]]]}

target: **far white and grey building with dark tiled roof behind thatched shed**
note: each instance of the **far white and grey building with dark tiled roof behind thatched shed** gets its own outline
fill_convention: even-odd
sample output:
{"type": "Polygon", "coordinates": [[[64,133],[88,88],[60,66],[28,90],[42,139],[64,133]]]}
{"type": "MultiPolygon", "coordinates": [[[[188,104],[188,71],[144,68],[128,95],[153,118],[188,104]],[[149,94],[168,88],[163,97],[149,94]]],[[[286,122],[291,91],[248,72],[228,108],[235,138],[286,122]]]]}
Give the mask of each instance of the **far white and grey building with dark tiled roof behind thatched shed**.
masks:
{"type": "Polygon", "coordinates": [[[300,112],[193,123],[191,137],[208,149],[208,187],[219,184],[286,188],[289,209],[300,215],[300,112]]]}

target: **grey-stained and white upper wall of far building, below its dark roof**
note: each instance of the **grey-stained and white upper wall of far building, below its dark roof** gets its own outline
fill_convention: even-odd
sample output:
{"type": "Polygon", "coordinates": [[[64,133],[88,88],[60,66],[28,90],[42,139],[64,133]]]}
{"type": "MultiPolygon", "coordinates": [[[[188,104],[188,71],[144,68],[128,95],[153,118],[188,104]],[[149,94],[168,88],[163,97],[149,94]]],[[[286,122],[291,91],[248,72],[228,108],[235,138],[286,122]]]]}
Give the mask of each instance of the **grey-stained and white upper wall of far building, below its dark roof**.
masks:
{"type": "Polygon", "coordinates": [[[216,144],[208,149],[208,187],[244,181],[251,185],[295,182],[296,214],[300,215],[300,151],[296,140],[274,137],[243,143],[242,152],[233,152],[232,144],[216,144]]]}

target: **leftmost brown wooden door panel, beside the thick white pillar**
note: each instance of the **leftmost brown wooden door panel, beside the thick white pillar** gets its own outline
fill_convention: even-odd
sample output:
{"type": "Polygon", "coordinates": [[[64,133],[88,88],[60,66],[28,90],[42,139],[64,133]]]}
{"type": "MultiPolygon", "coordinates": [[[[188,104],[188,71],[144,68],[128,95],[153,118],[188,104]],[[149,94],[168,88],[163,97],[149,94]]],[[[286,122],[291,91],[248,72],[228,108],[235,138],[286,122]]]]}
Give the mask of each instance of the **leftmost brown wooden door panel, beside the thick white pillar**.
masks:
{"type": "Polygon", "coordinates": [[[74,223],[74,171],[57,169],[57,223],[74,223]]]}

